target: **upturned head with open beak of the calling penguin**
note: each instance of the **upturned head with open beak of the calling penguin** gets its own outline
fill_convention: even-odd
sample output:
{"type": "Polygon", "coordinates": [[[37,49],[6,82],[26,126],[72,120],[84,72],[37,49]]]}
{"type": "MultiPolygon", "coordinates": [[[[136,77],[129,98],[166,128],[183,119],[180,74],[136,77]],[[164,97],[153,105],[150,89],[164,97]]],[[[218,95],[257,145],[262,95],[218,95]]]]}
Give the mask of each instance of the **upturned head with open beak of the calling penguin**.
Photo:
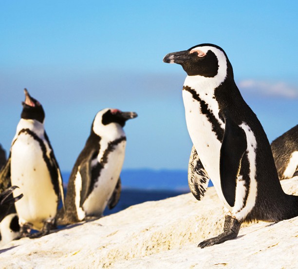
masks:
{"type": "Polygon", "coordinates": [[[29,95],[27,89],[24,89],[24,93],[25,101],[22,102],[23,110],[21,118],[35,119],[43,123],[45,114],[42,105],[35,98],[29,95]]]}

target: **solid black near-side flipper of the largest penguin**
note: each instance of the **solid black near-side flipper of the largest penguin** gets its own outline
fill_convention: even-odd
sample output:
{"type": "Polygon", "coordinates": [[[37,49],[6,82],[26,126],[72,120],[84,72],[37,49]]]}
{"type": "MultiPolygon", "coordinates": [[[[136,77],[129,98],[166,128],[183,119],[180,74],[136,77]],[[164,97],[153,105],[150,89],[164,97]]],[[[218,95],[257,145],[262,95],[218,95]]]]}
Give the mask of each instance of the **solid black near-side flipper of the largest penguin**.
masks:
{"type": "Polygon", "coordinates": [[[233,207],[235,204],[237,177],[241,160],[247,149],[244,130],[239,127],[227,112],[223,112],[225,129],[220,152],[220,177],[223,196],[233,207]]]}

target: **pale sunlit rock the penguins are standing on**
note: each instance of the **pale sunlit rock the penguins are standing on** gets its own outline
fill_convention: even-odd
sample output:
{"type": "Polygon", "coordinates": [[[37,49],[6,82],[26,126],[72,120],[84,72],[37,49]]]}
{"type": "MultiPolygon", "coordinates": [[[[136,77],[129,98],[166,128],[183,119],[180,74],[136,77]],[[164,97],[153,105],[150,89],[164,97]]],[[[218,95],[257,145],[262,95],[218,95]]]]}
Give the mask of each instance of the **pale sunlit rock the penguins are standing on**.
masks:
{"type": "MultiPolygon", "coordinates": [[[[298,177],[282,180],[298,195],[298,177]]],[[[191,193],[146,202],[39,239],[24,238],[0,250],[1,268],[297,268],[298,217],[242,225],[239,236],[197,248],[223,227],[214,188],[197,201],[191,193]]]]}

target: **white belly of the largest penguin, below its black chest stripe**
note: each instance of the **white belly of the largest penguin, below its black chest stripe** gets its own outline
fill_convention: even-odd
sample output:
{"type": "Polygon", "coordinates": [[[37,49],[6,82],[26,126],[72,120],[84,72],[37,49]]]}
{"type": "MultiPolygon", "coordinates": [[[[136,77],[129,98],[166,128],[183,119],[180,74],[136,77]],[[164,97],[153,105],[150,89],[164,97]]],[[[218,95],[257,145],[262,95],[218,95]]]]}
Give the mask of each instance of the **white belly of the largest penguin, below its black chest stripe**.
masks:
{"type": "MultiPolygon", "coordinates": [[[[212,131],[211,122],[206,115],[201,113],[200,103],[194,100],[191,93],[183,91],[183,101],[185,105],[186,125],[191,141],[220,200],[228,210],[231,210],[231,207],[223,196],[220,180],[220,150],[222,143],[212,131]]],[[[214,111],[218,110],[218,107],[209,107],[209,109],[214,113],[214,111]]]]}

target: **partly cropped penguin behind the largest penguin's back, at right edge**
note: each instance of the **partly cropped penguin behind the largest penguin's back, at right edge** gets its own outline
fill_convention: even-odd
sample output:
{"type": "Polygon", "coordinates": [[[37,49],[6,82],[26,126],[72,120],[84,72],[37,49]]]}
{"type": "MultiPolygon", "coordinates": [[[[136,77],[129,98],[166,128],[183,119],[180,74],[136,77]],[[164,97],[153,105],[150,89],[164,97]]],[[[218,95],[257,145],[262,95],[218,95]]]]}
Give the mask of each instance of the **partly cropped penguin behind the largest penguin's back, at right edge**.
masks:
{"type": "Polygon", "coordinates": [[[271,143],[279,179],[298,175],[298,125],[271,143]]]}

